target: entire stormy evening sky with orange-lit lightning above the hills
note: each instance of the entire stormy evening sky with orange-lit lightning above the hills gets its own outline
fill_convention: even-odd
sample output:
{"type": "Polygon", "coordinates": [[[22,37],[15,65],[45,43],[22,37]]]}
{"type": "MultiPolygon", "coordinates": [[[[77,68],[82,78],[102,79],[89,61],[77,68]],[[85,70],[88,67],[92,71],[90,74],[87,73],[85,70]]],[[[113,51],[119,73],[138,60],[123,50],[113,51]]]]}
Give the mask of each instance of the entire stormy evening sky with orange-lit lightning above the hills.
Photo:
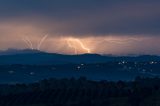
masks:
{"type": "Polygon", "coordinates": [[[0,0],[0,50],[160,55],[159,0],[0,0]]]}

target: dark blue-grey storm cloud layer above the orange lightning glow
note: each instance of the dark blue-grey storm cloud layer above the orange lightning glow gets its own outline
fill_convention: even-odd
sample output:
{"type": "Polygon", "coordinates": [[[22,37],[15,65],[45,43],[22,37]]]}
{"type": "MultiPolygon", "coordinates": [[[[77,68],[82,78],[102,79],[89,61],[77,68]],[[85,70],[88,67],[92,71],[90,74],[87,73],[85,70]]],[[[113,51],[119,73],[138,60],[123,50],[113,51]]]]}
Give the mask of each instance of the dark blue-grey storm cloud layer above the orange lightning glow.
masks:
{"type": "Polygon", "coordinates": [[[159,35],[159,10],[159,0],[0,0],[0,21],[64,35],[159,35]]]}

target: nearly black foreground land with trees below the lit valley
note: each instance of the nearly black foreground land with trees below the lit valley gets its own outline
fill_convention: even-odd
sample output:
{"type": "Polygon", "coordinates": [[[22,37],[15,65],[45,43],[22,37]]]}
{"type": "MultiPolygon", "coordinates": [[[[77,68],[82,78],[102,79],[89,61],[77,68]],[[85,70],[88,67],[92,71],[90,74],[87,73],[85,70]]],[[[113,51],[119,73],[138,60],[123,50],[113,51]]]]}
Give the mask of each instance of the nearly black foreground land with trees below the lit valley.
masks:
{"type": "Polygon", "coordinates": [[[160,106],[160,78],[112,82],[81,77],[0,85],[0,106],[160,106]]]}

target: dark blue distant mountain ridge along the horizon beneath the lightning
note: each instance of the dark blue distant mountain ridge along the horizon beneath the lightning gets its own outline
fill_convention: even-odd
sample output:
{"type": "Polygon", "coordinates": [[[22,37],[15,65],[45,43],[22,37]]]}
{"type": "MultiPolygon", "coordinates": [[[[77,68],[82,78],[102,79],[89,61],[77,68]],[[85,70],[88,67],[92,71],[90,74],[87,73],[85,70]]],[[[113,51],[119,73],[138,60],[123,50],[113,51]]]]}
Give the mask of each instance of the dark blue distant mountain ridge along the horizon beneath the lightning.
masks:
{"type": "Polygon", "coordinates": [[[160,61],[159,56],[103,56],[99,54],[64,55],[46,53],[38,50],[16,50],[9,49],[0,52],[0,65],[27,64],[27,65],[49,65],[49,64],[79,64],[79,63],[104,63],[113,61],[160,61]]]}

